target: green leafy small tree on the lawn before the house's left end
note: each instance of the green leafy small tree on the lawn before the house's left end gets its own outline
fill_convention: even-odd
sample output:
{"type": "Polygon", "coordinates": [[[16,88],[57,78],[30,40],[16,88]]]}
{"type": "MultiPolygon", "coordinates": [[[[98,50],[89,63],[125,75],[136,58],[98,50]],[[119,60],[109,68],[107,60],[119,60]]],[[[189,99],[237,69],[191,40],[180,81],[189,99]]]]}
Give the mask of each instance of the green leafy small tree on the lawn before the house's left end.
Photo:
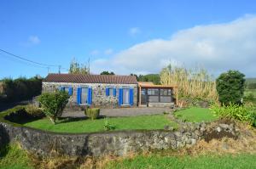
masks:
{"type": "Polygon", "coordinates": [[[38,101],[44,110],[44,114],[55,124],[56,118],[62,115],[62,112],[68,102],[69,95],[65,91],[56,90],[55,93],[42,93],[38,101]]]}

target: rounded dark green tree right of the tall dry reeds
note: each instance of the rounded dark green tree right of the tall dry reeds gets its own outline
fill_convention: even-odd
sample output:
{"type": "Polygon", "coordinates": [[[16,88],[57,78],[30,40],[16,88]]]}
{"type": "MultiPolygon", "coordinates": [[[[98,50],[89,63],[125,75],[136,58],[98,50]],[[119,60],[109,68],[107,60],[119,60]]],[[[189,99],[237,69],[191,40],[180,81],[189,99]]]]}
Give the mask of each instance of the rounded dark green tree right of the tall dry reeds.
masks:
{"type": "Polygon", "coordinates": [[[221,104],[241,104],[245,78],[238,70],[229,70],[218,76],[216,89],[221,104]]]}

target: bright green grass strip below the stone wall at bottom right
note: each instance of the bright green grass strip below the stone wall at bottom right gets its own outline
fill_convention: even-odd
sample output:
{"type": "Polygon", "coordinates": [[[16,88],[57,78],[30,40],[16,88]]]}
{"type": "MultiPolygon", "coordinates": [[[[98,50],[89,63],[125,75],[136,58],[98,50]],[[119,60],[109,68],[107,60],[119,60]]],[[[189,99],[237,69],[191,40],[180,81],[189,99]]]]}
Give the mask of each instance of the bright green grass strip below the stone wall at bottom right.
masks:
{"type": "Polygon", "coordinates": [[[133,159],[123,161],[112,161],[106,168],[108,169],[233,169],[233,168],[255,168],[256,155],[198,155],[195,157],[184,156],[160,156],[160,155],[138,155],[133,159]]]}

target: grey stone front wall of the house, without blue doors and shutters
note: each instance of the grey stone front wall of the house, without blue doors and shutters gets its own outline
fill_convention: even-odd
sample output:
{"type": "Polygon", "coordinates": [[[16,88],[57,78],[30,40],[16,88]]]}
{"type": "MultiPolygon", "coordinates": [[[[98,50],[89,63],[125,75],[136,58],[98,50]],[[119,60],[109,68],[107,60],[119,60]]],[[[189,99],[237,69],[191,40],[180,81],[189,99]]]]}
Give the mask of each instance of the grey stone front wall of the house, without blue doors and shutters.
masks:
{"type": "Polygon", "coordinates": [[[58,87],[73,87],[73,95],[67,104],[67,109],[79,110],[77,104],[78,87],[92,87],[92,106],[100,108],[117,108],[119,106],[119,87],[133,88],[133,106],[137,106],[137,84],[106,84],[106,83],[68,83],[68,82],[43,82],[42,92],[53,92],[58,87]],[[116,87],[116,97],[106,96],[106,87],[116,87]]]}

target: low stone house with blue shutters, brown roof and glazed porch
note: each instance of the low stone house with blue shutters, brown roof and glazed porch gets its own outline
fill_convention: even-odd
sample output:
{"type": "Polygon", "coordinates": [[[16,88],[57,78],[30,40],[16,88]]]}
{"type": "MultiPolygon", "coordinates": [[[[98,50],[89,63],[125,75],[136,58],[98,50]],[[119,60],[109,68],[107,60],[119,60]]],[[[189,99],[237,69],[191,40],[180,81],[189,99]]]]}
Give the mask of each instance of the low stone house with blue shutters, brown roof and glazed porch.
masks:
{"type": "Polygon", "coordinates": [[[137,82],[136,76],[49,74],[42,93],[65,90],[70,95],[67,109],[171,106],[173,88],[137,82]]]}

